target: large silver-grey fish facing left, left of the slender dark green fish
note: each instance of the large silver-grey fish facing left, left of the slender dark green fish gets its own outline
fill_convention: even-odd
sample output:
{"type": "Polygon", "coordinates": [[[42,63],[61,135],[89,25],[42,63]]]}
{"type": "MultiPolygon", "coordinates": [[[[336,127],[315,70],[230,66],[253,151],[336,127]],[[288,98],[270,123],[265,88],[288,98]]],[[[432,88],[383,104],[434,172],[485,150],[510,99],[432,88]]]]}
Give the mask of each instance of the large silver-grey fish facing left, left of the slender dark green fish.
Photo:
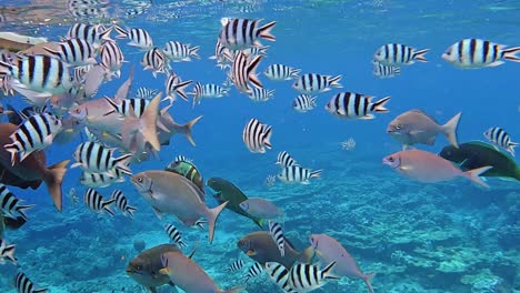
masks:
{"type": "Polygon", "coordinates": [[[201,200],[202,194],[197,185],[169,171],[144,171],[133,175],[131,181],[159,218],[162,213],[173,214],[184,225],[192,226],[204,216],[208,220],[209,242],[213,241],[217,219],[228,202],[209,209],[201,200]]]}

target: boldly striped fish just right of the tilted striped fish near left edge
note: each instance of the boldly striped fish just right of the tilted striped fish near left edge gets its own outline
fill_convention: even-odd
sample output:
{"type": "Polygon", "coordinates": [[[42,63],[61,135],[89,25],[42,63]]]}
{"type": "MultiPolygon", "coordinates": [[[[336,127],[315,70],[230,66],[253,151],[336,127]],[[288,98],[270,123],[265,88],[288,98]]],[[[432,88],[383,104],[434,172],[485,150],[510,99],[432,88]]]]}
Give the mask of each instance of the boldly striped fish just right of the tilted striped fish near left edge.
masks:
{"type": "Polygon", "coordinates": [[[113,158],[114,149],[109,149],[100,143],[93,141],[86,141],[78,145],[74,151],[76,163],[70,168],[81,168],[83,171],[116,174],[116,169],[122,173],[131,175],[132,172],[128,168],[128,161],[131,160],[132,154],[122,154],[119,158],[113,158]]]}

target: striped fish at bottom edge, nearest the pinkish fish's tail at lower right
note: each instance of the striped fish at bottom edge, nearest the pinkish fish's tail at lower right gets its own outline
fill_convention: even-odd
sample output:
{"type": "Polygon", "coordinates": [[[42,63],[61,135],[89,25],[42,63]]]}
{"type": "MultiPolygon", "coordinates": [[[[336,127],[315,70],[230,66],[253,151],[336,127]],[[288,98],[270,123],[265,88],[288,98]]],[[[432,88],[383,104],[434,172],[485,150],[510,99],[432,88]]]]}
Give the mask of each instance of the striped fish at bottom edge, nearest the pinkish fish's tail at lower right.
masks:
{"type": "Polygon", "coordinates": [[[339,280],[332,274],[336,261],[323,270],[316,264],[297,263],[289,270],[289,285],[298,292],[309,292],[324,285],[326,281],[339,280]]]}

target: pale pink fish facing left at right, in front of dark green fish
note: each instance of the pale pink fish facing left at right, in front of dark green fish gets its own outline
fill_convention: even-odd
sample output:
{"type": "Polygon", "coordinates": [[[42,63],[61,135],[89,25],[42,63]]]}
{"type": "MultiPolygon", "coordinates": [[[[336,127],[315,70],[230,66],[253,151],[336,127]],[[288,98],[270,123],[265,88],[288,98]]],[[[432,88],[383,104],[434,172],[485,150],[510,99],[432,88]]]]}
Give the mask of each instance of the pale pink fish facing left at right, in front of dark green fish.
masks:
{"type": "Polygon", "coordinates": [[[462,172],[450,161],[420,150],[400,151],[383,158],[382,162],[419,182],[436,183],[462,176],[484,188],[489,185],[479,175],[492,168],[488,165],[462,172]]]}

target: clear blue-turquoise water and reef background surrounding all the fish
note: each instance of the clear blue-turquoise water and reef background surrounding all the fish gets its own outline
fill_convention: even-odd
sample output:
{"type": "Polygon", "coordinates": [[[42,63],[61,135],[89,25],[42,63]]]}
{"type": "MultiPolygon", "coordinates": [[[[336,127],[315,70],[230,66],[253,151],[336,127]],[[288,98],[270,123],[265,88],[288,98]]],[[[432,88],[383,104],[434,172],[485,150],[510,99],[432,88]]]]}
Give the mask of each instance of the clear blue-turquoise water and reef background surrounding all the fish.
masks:
{"type": "MultiPolygon", "coordinates": [[[[302,250],[311,233],[327,233],[357,260],[363,272],[377,272],[376,292],[519,292],[520,185],[514,181],[488,179],[483,190],[464,180],[424,184],[406,179],[381,163],[381,159],[401,149],[387,133],[387,124],[410,109],[422,109],[444,123],[462,112],[459,142],[484,140],[489,127],[502,127],[513,141],[520,140],[520,64],[507,62],[498,68],[459,70],[440,55],[464,38],[488,39],[509,47],[520,46],[518,1],[110,1],[103,19],[74,19],[64,9],[66,1],[3,2],[0,31],[16,31],[58,41],[70,24],[91,21],[120,23],[150,32],[157,46],[170,40],[200,46],[201,60],[172,63],[183,80],[220,84],[226,74],[208,57],[222,17],[277,21],[276,42],[258,72],[273,63],[302,69],[303,73],[342,74],[343,89],[318,94],[318,107],[300,114],[291,109],[298,93],[292,81],[274,82],[259,74],[266,89],[276,90],[274,99],[254,103],[234,88],[230,95],[206,99],[200,105],[177,101],[170,113],[179,123],[203,115],[193,128],[192,146],[182,135],[172,138],[158,159],[132,164],[133,173],[163,169],[174,155],[193,159],[204,179],[221,176],[236,183],[248,196],[261,196],[286,212],[286,236],[302,250]],[[41,2],[41,3],[39,3],[41,2]],[[128,17],[128,9],[140,2],[143,13],[128,17]],[[378,79],[372,75],[371,58],[382,44],[400,42],[430,49],[430,62],[402,68],[400,75],[378,79]],[[390,113],[374,120],[340,120],[323,110],[340,91],[353,91],[382,98],[391,95],[390,113]],[[246,123],[257,118],[273,127],[272,150],[250,153],[242,140],[246,123]],[[341,142],[352,138],[356,148],[344,150],[341,142]],[[309,185],[266,185],[277,174],[278,152],[288,151],[310,169],[323,169],[322,178],[309,185]]],[[[112,37],[116,33],[112,32],[112,37]]],[[[153,79],[139,64],[142,52],[118,41],[126,60],[120,79],[104,83],[94,98],[112,97],[136,68],[132,93],[139,87],[163,91],[164,75],[153,79]]],[[[191,87],[190,87],[191,89],[191,87]]],[[[17,109],[26,104],[18,98],[2,100],[17,109]]],[[[51,145],[48,162],[72,159],[78,138],[70,144],[51,145]]],[[[448,142],[439,137],[439,152],[448,142]]],[[[518,162],[518,159],[516,159],[518,162]]],[[[53,208],[47,189],[10,188],[26,203],[29,222],[20,230],[6,231],[4,238],[17,245],[21,271],[50,292],[143,292],[126,274],[129,260],[138,253],[132,245],[143,240],[147,247],[167,243],[164,223],[174,223],[186,238],[189,251],[200,241],[194,261],[222,289],[241,284],[242,272],[229,274],[226,267],[237,257],[252,261],[237,249],[237,241],[258,230],[246,218],[226,210],[218,220],[213,243],[207,232],[186,228],[173,218],[159,220],[136,192],[129,180],[107,189],[121,189],[138,211],[133,220],[118,213],[114,218],[88,210],[79,183],[80,171],[69,170],[64,194],[76,188],[80,203],[64,196],[63,212],[53,208]]],[[[208,191],[209,192],[209,191],[208,191]]],[[[216,206],[213,200],[207,201],[216,206]]],[[[0,266],[0,292],[14,292],[17,267],[0,266]]],[[[248,292],[276,292],[267,276],[257,277],[248,292]]],[[[173,292],[164,286],[159,292],[173,292]]],[[[343,277],[329,282],[317,292],[367,292],[361,280],[343,277]]]]}

